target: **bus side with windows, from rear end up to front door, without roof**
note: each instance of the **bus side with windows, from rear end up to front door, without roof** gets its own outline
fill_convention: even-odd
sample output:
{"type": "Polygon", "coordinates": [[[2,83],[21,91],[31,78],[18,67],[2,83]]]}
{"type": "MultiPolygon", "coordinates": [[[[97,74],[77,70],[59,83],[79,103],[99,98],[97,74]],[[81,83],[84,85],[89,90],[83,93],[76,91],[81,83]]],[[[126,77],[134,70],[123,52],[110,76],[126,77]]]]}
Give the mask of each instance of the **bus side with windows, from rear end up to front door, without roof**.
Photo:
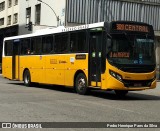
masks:
{"type": "Polygon", "coordinates": [[[41,83],[73,87],[78,74],[88,76],[86,39],[86,30],[6,38],[3,76],[24,81],[26,86],[41,83]]]}

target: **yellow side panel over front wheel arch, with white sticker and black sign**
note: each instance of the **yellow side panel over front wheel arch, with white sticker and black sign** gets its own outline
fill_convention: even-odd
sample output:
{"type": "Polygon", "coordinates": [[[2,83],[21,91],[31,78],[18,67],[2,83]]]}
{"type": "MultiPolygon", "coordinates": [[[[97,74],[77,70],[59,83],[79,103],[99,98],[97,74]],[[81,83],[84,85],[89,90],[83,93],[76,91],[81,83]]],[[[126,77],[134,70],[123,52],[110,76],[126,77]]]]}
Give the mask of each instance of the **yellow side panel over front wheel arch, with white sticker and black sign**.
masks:
{"type": "Polygon", "coordinates": [[[87,54],[66,55],[65,61],[66,61],[66,64],[65,64],[65,85],[66,86],[74,85],[74,76],[76,71],[78,70],[82,70],[88,79],[88,55],[87,54]]]}

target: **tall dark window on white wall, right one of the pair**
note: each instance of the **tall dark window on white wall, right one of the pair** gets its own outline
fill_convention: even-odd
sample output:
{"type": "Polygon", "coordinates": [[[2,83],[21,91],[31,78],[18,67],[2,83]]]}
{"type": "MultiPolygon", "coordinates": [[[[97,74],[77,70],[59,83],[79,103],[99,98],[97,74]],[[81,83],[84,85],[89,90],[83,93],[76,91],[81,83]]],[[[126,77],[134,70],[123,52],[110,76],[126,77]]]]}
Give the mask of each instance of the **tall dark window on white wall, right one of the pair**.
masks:
{"type": "Polygon", "coordinates": [[[35,24],[40,25],[40,19],[41,19],[41,4],[36,5],[36,11],[35,11],[35,24]]]}

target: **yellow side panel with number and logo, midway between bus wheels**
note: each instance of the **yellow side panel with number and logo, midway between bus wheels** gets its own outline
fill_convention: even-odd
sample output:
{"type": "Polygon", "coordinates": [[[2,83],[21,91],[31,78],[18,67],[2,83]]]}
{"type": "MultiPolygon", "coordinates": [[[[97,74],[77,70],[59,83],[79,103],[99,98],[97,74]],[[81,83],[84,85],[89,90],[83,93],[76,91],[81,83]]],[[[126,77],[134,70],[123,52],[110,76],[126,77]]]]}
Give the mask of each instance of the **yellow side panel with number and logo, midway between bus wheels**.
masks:
{"type": "Polygon", "coordinates": [[[64,85],[65,55],[49,55],[45,57],[45,83],[64,85]]]}

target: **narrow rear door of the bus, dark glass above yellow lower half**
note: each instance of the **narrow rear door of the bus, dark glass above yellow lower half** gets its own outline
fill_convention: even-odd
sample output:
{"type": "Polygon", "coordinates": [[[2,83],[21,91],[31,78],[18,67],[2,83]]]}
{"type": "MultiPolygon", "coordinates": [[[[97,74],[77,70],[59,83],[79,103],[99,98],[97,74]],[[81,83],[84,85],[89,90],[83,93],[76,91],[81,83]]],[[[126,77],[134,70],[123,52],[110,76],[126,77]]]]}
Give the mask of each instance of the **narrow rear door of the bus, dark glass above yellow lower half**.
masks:
{"type": "Polygon", "coordinates": [[[19,40],[13,41],[12,79],[19,79],[19,40]]]}

